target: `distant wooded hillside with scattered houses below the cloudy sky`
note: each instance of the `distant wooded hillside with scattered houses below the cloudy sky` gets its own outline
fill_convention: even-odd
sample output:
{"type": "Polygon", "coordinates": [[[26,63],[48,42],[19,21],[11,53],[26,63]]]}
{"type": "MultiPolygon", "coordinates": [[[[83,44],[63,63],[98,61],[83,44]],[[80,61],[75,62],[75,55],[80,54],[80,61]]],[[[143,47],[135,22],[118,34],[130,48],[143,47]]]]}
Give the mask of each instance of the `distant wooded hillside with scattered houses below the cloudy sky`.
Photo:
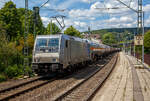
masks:
{"type": "MultiPolygon", "coordinates": [[[[144,28],[145,33],[150,30],[150,27],[144,28]]],[[[119,44],[124,43],[126,40],[133,40],[134,34],[137,34],[137,28],[110,28],[110,29],[101,29],[101,30],[93,30],[91,34],[100,34],[101,40],[104,44],[119,44]],[[112,38],[104,38],[110,35],[112,38]],[[108,40],[110,39],[110,40],[108,40]],[[112,42],[113,40],[113,42],[112,42]]],[[[147,37],[145,37],[147,38],[147,37]]]]}

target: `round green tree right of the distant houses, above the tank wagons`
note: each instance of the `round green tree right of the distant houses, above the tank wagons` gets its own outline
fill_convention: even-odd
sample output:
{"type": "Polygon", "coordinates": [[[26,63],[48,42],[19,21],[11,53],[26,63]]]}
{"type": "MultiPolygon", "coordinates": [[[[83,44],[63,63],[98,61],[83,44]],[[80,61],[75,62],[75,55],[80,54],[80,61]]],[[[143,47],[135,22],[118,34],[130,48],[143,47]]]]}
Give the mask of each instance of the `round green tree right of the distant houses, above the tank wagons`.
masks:
{"type": "Polygon", "coordinates": [[[104,44],[112,45],[116,44],[115,36],[112,33],[107,33],[102,36],[102,41],[104,44]]]}

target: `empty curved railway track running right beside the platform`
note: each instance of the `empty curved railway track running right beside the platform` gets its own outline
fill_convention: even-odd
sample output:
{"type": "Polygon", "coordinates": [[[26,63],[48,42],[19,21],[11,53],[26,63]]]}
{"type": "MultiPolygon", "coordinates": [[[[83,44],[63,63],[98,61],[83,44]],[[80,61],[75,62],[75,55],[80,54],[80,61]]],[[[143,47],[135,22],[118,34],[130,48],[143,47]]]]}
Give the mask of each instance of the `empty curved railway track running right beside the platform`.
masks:
{"type": "Polygon", "coordinates": [[[83,80],[70,90],[66,91],[55,101],[89,101],[105,82],[111,71],[115,67],[118,55],[114,56],[111,61],[103,68],[97,70],[93,75],[83,80]]]}

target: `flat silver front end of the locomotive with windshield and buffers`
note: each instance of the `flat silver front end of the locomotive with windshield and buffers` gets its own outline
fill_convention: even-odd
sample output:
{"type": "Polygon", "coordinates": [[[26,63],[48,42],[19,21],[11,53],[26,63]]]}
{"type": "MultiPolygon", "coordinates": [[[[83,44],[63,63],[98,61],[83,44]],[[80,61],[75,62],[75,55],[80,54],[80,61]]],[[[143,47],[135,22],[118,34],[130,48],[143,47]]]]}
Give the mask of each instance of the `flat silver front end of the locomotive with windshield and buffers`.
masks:
{"type": "Polygon", "coordinates": [[[56,71],[59,64],[60,35],[37,36],[33,50],[32,68],[35,72],[56,71]]]}

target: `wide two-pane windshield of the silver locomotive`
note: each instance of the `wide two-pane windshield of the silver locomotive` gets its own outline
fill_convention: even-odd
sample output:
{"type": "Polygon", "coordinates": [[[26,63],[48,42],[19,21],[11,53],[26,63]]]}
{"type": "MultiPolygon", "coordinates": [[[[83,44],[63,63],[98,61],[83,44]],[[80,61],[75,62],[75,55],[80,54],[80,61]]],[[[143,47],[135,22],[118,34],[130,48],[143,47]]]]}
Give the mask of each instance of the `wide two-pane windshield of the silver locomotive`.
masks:
{"type": "Polygon", "coordinates": [[[39,38],[36,41],[36,52],[55,53],[59,50],[59,38],[39,38]]]}

